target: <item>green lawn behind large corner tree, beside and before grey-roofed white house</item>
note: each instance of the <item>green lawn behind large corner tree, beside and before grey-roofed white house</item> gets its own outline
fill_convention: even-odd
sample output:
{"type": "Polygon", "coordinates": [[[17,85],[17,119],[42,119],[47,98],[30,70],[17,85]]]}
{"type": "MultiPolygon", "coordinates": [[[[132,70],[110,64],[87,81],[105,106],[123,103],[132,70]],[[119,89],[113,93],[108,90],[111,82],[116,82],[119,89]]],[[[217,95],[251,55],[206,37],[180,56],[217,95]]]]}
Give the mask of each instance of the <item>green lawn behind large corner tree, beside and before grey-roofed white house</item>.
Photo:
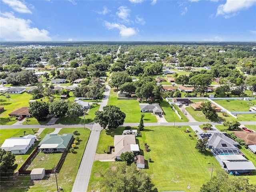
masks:
{"type": "MultiPolygon", "coordinates": [[[[124,123],[140,122],[140,115],[142,113],[140,112],[140,106],[137,100],[117,100],[117,92],[111,89],[108,105],[115,105],[126,114],[124,123]]],[[[157,122],[156,116],[151,115],[151,113],[144,113],[144,115],[144,122],[157,122]]]]}

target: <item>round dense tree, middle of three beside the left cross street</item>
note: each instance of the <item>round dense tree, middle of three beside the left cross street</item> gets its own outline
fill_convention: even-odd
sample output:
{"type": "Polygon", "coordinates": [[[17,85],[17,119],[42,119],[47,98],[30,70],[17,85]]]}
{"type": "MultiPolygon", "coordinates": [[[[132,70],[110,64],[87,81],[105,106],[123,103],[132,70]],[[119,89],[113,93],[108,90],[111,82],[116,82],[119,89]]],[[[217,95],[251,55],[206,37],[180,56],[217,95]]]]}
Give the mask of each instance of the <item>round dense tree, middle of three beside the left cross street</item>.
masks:
{"type": "Polygon", "coordinates": [[[68,102],[54,101],[49,104],[49,112],[55,117],[64,117],[68,111],[68,102]]]}

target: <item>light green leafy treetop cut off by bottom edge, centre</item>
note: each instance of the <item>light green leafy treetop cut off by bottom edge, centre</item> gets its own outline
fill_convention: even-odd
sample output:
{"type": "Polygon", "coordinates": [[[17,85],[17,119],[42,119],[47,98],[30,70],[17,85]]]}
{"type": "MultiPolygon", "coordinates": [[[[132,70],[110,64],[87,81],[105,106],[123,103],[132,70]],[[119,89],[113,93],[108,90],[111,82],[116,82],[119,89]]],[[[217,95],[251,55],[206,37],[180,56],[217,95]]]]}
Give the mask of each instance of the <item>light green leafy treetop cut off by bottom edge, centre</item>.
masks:
{"type": "Polygon", "coordinates": [[[108,168],[100,182],[104,192],[158,192],[144,170],[138,170],[136,164],[117,165],[116,169],[108,168]]]}

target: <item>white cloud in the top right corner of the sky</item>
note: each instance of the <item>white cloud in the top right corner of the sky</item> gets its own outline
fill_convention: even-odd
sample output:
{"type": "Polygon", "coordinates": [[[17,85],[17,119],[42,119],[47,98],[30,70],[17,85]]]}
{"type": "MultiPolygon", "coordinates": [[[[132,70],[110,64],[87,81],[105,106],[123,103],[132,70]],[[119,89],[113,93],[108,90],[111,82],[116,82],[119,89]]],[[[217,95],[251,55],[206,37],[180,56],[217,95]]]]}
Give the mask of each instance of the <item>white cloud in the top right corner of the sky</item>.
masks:
{"type": "Polygon", "coordinates": [[[218,6],[217,15],[234,14],[239,10],[248,9],[254,4],[256,4],[255,0],[227,0],[226,4],[218,6]]]}

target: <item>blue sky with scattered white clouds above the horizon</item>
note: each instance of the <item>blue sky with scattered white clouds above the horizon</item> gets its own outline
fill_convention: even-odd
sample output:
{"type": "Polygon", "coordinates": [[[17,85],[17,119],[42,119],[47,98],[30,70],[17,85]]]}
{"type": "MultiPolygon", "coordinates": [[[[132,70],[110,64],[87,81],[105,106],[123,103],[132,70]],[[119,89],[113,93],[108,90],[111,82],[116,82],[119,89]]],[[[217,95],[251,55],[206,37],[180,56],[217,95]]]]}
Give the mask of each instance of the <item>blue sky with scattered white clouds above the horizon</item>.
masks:
{"type": "Polygon", "coordinates": [[[256,41],[256,0],[0,0],[1,41],[256,41]]]}

